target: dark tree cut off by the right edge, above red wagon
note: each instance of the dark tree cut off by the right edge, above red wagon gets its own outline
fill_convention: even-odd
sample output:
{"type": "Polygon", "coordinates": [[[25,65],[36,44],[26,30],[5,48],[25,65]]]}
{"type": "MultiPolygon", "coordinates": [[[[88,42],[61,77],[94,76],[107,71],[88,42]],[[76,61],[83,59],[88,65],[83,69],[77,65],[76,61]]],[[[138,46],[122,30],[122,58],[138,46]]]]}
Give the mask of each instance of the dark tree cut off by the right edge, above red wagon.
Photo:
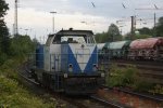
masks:
{"type": "Polygon", "coordinates": [[[159,23],[155,27],[156,37],[163,37],[163,17],[159,18],[159,23]]]}

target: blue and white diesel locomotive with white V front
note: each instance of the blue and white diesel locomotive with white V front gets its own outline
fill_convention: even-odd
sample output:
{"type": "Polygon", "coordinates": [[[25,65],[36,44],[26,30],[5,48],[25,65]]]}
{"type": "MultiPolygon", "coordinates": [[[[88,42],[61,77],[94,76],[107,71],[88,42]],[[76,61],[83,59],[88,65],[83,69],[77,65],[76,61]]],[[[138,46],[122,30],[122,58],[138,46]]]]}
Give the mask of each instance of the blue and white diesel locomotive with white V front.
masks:
{"type": "Polygon", "coordinates": [[[35,79],[67,94],[96,93],[104,82],[98,70],[97,44],[91,30],[60,30],[36,50],[35,79]]]}

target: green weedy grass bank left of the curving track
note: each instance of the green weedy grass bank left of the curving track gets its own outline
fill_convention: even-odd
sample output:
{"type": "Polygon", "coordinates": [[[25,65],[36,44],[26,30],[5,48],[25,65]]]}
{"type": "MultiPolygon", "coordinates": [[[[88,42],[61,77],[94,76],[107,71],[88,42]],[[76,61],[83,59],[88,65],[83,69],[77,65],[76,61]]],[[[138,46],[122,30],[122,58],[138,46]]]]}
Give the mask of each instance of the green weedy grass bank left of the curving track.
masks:
{"type": "Polygon", "coordinates": [[[47,102],[18,83],[15,68],[21,63],[20,59],[9,59],[0,67],[0,108],[55,108],[54,98],[47,102]]]}

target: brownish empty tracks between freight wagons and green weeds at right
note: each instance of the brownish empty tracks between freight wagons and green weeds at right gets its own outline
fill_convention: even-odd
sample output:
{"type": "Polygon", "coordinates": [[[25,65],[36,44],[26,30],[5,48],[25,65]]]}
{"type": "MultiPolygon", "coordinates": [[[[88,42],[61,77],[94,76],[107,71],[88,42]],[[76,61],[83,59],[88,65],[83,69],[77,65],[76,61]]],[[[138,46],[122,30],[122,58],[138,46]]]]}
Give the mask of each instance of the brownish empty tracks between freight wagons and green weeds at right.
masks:
{"type": "Polygon", "coordinates": [[[156,62],[137,62],[137,60],[111,60],[110,65],[117,67],[136,67],[139,69],[138,76],[156,84],[163,84],[163,63],[156,62]]]}

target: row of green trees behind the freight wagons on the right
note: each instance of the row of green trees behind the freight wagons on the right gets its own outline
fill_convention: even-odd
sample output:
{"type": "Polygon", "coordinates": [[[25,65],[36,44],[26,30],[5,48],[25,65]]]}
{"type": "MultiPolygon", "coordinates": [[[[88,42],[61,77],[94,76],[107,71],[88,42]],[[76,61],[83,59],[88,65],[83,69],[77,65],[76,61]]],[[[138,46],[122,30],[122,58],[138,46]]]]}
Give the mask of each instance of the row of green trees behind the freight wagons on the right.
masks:
{"type": "Polygon", "coordinates": [[[113,42],[113,41],[122,41],[122,40],[130,40],[133,39],[145,39],[150,37],[163,37],[163,17],[159,18],[158,24],[153,28],[143,27],[140,29],[136,29],[134,36],[130,32],[122,36],[118,27],[115,24],[111,24],[106,32],[101,32],[96,35],[96,40],[98,43],[103,42],[113,42]]]}

